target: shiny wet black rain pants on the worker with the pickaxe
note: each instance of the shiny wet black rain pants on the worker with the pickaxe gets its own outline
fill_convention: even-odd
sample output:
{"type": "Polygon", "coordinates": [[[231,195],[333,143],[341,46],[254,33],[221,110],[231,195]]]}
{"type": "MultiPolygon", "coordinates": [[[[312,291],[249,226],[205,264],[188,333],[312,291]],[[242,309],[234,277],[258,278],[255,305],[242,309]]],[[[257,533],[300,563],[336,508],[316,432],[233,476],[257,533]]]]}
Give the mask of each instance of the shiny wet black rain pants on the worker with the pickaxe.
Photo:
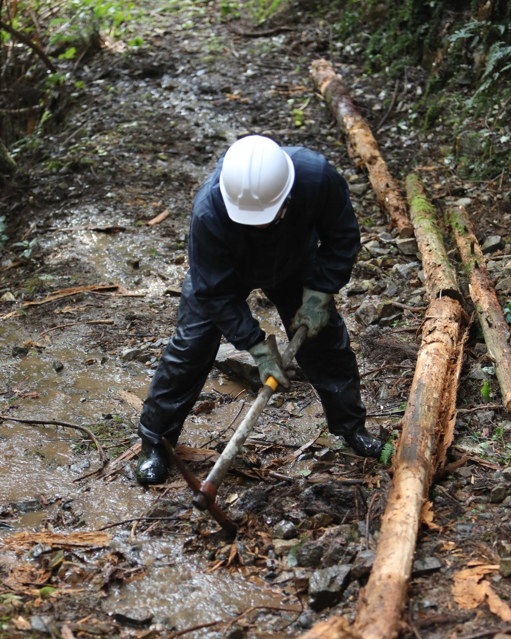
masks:
{"type": "MultiPolygon", "coordinates": [[[[263,293],[277,307],[287,336],[291,337],[289,325],[301,305],[303,283],[286,281],[278,288],[263,289],[263,293]]],[[[244,299],[249,294],[250,289],[244,299]]],[[[176,445],[213,367],[221,337],[195,299],[188,274],[181,289],[176,334],[160,358],[142,407],[142,440],[156,444],[165,437],[176,445]]],[[[365,406],[360,398],[355,353],[349,348],[346,325],[333,300],[328,325],[314,339],[305,340],[296,361],[321,399],[330,433],[351,435],[363,428],[365,406]]]]}

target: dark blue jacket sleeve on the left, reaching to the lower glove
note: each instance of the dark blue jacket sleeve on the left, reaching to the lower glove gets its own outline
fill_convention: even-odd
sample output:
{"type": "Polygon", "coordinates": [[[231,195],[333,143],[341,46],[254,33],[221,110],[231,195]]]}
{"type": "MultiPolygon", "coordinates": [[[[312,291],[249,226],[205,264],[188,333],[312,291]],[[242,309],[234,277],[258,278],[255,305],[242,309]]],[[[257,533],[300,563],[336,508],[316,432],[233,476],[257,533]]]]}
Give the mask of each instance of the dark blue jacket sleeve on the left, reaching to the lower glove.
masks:
{"type": "Polygon", "coordinates": [[[236,274],[229,250],[192,216],[188,242],[190,277],[195,298],[208,318],[238,350],[248,350],[265,337],[244,298],[236,295],[236,274]]]}

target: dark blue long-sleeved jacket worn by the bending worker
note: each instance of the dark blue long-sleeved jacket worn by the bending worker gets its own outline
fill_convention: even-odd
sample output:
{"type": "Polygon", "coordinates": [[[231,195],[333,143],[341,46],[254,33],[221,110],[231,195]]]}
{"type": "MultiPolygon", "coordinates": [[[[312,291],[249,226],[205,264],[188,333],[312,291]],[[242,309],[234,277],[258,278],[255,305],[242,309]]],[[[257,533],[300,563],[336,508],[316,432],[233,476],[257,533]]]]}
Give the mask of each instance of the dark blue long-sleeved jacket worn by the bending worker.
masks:
{"type": "Polygon", "coordinates": [[[286,215],[257,229],[227,215],[220,194],[223,158],[195,196],[188,254],[195,297],[225,339],[248,350],[264,339],[246,298],[287,279],[324,293],[349,281],[360,232],[346,180],[326,158],[283,147],[295,169],[286,215]]]}

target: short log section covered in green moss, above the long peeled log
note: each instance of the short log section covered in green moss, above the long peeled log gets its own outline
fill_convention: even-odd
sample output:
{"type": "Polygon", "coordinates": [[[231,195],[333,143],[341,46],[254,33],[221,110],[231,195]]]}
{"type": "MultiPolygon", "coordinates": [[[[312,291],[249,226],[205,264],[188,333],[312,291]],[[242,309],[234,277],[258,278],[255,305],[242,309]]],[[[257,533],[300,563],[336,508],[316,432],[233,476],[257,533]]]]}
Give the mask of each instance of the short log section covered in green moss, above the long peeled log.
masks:
{"type": "Polygon", "coordinates": [[[429,298],[444,295],[462,302],[456,273],[447,256],[436,209],[427,199],[422,181],[415,173],[406,178],[408,210],[415,229],[415,238],[422,256],[422,266],[429,298]]]}

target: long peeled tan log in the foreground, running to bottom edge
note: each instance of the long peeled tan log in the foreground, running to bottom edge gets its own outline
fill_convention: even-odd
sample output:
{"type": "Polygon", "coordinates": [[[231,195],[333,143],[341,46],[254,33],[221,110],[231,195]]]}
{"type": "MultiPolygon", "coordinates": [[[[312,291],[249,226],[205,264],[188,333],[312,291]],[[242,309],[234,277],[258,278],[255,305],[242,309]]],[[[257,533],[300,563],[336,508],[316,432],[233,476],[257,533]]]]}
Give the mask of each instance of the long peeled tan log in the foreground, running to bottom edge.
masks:
{"type": "Polygon", "coordinates": [[[456,394],[456,384],[446,388],[446,379],[460,355],[462,314],[461,304],[448,297],[434,300],[426,313],[378,549],[359,600],[354,629],[363,639],[391,639],[400,630],[436,432],[451,417],[448,395],[456,394]]]}

